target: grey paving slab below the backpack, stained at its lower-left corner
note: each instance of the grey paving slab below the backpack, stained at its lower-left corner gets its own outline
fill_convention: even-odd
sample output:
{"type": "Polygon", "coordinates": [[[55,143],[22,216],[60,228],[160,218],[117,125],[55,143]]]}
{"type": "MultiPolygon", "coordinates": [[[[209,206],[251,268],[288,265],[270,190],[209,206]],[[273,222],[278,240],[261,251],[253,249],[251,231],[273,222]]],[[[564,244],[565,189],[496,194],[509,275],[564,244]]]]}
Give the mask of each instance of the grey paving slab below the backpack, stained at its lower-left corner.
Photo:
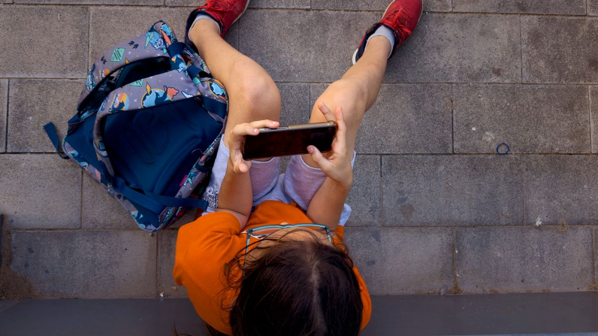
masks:
{"type": "Polygon", "coordinates": [[[42,297],[156,294],[156,239],[141,230],[13,232],[11,253],[11,269],[42,297]]]}

